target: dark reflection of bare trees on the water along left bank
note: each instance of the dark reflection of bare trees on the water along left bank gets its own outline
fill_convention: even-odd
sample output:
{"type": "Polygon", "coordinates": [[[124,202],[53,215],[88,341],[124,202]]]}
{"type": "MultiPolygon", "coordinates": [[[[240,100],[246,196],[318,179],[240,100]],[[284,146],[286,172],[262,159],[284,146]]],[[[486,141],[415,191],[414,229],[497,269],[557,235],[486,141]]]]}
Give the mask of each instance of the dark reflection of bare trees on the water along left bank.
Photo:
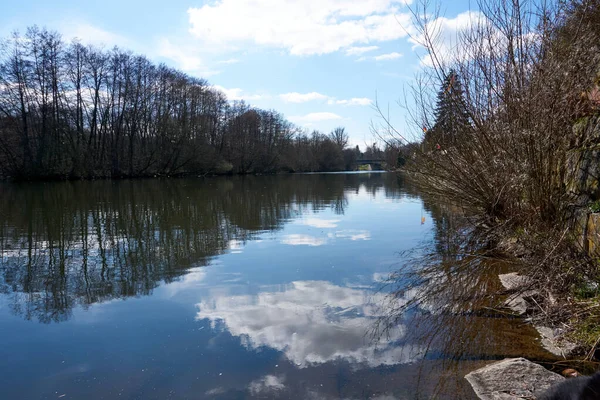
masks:
{"type": "Polygon", "coordinates": [[[306,210],[343,214],[346,193],[401,189],[391,174],[0,186],[0,292],[25,319],[149,295],[306,210]]]}

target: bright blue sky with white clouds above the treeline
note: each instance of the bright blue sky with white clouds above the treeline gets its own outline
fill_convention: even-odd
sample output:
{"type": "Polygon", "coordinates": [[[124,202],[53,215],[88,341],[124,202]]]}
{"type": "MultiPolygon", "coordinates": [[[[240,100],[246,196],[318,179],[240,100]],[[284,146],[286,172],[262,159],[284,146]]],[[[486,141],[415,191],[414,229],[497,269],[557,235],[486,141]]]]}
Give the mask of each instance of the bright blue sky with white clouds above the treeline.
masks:
{"type": "MultiPolygon", "coordinates": [[[[415,44],[413,1],[419,0],[29,0],[3,4],[0,36],[38,25],[66,40],[117,45],[205,78],[230,100],[275,109],[307,130],[343,126],[350,144],[364,150],[376,141],[375,101],[410,136],[399,103],[427,65],[415,44]]],[[[440,46],[451,52],[470,6],[440,3],[440,46]]]]}

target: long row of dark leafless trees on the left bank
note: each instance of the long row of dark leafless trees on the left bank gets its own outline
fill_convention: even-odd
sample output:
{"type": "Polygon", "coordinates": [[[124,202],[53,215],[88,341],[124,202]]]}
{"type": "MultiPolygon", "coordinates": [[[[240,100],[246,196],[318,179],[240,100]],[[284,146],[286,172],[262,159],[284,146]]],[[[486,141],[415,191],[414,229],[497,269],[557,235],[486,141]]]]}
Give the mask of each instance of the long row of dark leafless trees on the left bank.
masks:
{"type": "Polygon", "coordinates": [[[348,135],[308,137],[278,112],[119,48],[37,27],[0,45],[0,176],[100,178],[341,170],[348,135]]]}

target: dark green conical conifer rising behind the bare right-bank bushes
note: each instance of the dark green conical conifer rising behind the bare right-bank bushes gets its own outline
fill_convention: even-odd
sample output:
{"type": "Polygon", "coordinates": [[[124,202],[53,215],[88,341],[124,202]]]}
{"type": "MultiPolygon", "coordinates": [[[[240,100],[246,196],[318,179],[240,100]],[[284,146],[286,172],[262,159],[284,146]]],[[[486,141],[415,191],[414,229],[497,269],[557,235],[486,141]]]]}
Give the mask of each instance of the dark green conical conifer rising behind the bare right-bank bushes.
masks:
{"type": "Polygon", "coordinates": [[[425,133],[425,142],[429,146],[450,146],[464,139],[469,127],[462,83],[458,74],[450,70],[438,92],[435,124],[425,133]]]}

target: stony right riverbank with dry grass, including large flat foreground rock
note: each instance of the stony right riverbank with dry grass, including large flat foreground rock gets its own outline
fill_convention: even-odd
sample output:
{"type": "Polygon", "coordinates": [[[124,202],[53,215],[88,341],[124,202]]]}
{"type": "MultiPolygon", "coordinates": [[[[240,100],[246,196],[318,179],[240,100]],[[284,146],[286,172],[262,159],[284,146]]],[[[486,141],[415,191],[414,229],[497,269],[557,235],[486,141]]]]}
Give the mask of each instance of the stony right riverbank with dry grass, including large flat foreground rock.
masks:
{"type": "MultiPolygon", "coordinates": [[[[502,252],[504,257],[513,260],[512,272],[501,273],[497,277],[502,285],[502,290],[495,292],[500,294],[498,307],[510,310],[524,324],[533,327],[537,331],[539,346],[556,356],[557,360],[547,363],[534,358],[532,362],[530,356],[523,353],[521,356],[525,358],[492,362],[473,370],[465,378],[480,399],[504,399],[503,396],[536,399],[551,384],[564,380],[563,376],[591,375],[598,365],[599,326],[595,322],[590,323],[598,318],[597,285],[588,278],[571,281],[563,288],[550,284],[548,278],[556,276],[553,275],[555,271],[544,271],[540,265],[552,257],[560,242],[552,249],[547,248],[544,259],[536,255],[535,246],[527,247],[524,243],[531,242],[513,237],[492,246],[492,252],[502,252]]],[[[538,242],[537,246],[544,246],[544,242],[538,242]]],[[[576,271],[583,277],[586,270],[593,268],[594,261],[585,253],[573,251],[564,253],[569,256],[563,257],[562,261],[572,268],[578,266],[580,269],[576,271]],[[578,254],[581,254],[580,258],[578,254]]],[[[555,269],[560,267],[554,265],[555,269]]]]}

